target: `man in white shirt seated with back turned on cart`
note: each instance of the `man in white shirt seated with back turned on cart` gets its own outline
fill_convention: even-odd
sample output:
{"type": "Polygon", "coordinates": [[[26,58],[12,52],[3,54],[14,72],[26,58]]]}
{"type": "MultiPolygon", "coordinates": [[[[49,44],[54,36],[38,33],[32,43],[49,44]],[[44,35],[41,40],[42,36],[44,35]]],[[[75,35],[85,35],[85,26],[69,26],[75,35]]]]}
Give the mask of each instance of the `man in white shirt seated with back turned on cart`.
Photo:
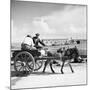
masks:
{"type": "Polygon", "coordinates": [[[31,35],[27,35],[25,37],[24,41],[21,44],[21,49],[23,50],[35,49],[31,35]]]}

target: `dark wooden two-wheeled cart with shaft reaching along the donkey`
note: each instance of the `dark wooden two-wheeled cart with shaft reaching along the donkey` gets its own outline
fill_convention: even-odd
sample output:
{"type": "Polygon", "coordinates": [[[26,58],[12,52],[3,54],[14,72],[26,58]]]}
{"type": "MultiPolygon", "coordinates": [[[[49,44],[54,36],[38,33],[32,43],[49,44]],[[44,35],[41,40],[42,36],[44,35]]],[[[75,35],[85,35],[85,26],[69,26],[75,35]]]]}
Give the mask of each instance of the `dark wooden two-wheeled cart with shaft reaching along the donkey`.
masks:
{"type": "Polygon", "coordinates": [[[12,54],[14,61],[14,69],[16,72],[29,72],[31,74],[34,71],[39,70],[44,61],[60,59],[58,57],[40,56],[38,50],[15,50],[12,54]]]}

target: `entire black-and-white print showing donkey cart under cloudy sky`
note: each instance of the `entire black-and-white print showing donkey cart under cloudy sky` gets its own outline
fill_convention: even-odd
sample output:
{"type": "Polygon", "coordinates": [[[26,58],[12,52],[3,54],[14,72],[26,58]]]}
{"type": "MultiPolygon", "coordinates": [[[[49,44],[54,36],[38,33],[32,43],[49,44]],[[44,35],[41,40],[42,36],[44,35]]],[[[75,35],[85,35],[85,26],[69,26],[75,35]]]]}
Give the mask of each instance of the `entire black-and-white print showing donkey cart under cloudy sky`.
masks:
{"type": "Polygon", "coordinates": [[[87,85],[87,5],[10,3],[11,89],[87,85]]]}

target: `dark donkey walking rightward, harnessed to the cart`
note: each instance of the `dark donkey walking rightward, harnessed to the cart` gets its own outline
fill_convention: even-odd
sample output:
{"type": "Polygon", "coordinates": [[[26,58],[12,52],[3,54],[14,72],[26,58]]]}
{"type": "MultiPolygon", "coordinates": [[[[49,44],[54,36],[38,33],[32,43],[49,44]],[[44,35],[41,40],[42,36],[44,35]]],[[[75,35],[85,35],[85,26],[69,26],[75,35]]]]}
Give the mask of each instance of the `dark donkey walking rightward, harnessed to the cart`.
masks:
{"type": "MultiPolygon", "coordinates": [[[[70,62],[71,62],[72,59],[75,59],[76,57],[79,56],[76,47],[75,47],[75,48],[70,48],[70,49],[68,48],[67,50],[65,50],[65,49],[62,50],[62,49],[60,48],[60,49],[57,50],[57,55],[58,55],[58,57],[60,58],[60,61],[62,61],[61,73],[64,74],[64,72],[63,72],[63,67],[64,67],[66,61],[68,61],[68,65],[69,65],[72,73],[74,73],[74,70],[73,70],[70,62]]],[[[47,56],[49,57],[49,56],[55,56],[55,55],[52,54],[51,52],[48,52],[48,53],[47,53],[47,56]]],[[[48,60],[45,62],[43,72],[45,72],[45,69],[46,69],[47,65],[49,64],[49,65],[50,65],[50,68],[51,68],[51,71],[52,71],[53,73],[55,73],[55,71],[53,70],[52,65],[53,65],[53,64],[57,64],[57,63],[58,63],[58,62],[56,62],[55,60],[50,60],[50,59],[48,59],[48,60]]]]}

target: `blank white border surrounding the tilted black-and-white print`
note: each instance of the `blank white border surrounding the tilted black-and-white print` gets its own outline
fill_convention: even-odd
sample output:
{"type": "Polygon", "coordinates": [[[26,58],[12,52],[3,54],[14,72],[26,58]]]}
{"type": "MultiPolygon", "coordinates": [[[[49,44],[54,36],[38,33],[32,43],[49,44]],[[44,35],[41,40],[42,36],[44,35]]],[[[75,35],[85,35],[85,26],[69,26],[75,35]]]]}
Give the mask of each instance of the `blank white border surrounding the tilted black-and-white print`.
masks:
{"type": "MultiPolygon", "coordinates": [[[[31,0],[28,0],[31,1],[31,0]]],[[[88,4],[89,0],[32,0],[42,2],[56,2],[56,3],[69,3],[69,4],[88,4]]],[[[90,7],[88,6],[88,16],[90,16],[90,7]]],[[[88,20],[90,18],[88,17],[88,20]]],[[[89,22],[88,22],[89,24],[89,22]]],[[[90,33],[90,27],[88,28],[88,39],[90,33]]],[[[88,40],[88,50],[90,50],[88,40]]],[[[88,52],[89,54],[89,52],[88,52]]],[[[89,55],[90,56],[90,55],[89,55]]],[[[89,58],[88,56],[88,58],[89,58]]],[[[88,59],[89,63],[89,59],[88,59]]],[[[89,65],[88,65],[89,68],[89,65]]],[[[0,0],[0,90],[8,90],[10,85],[10,0],[0,0]]],[[[88,70],[88,76],[90,72],[88,70]]],[[[89,77],[88,77],[89,80],[89,77]]],[[[88,81],[89,83],[89,81],[88,81]]],[[[73,87],[56,87],[56,88],[43,88],[42,90],[89,90],[88,86],[73,86],[73,87]]],[[[28,89],[29,90],[29,89],[28,89]]],[[[40,89],[37,89],[40,90],[40,89]]]]}

